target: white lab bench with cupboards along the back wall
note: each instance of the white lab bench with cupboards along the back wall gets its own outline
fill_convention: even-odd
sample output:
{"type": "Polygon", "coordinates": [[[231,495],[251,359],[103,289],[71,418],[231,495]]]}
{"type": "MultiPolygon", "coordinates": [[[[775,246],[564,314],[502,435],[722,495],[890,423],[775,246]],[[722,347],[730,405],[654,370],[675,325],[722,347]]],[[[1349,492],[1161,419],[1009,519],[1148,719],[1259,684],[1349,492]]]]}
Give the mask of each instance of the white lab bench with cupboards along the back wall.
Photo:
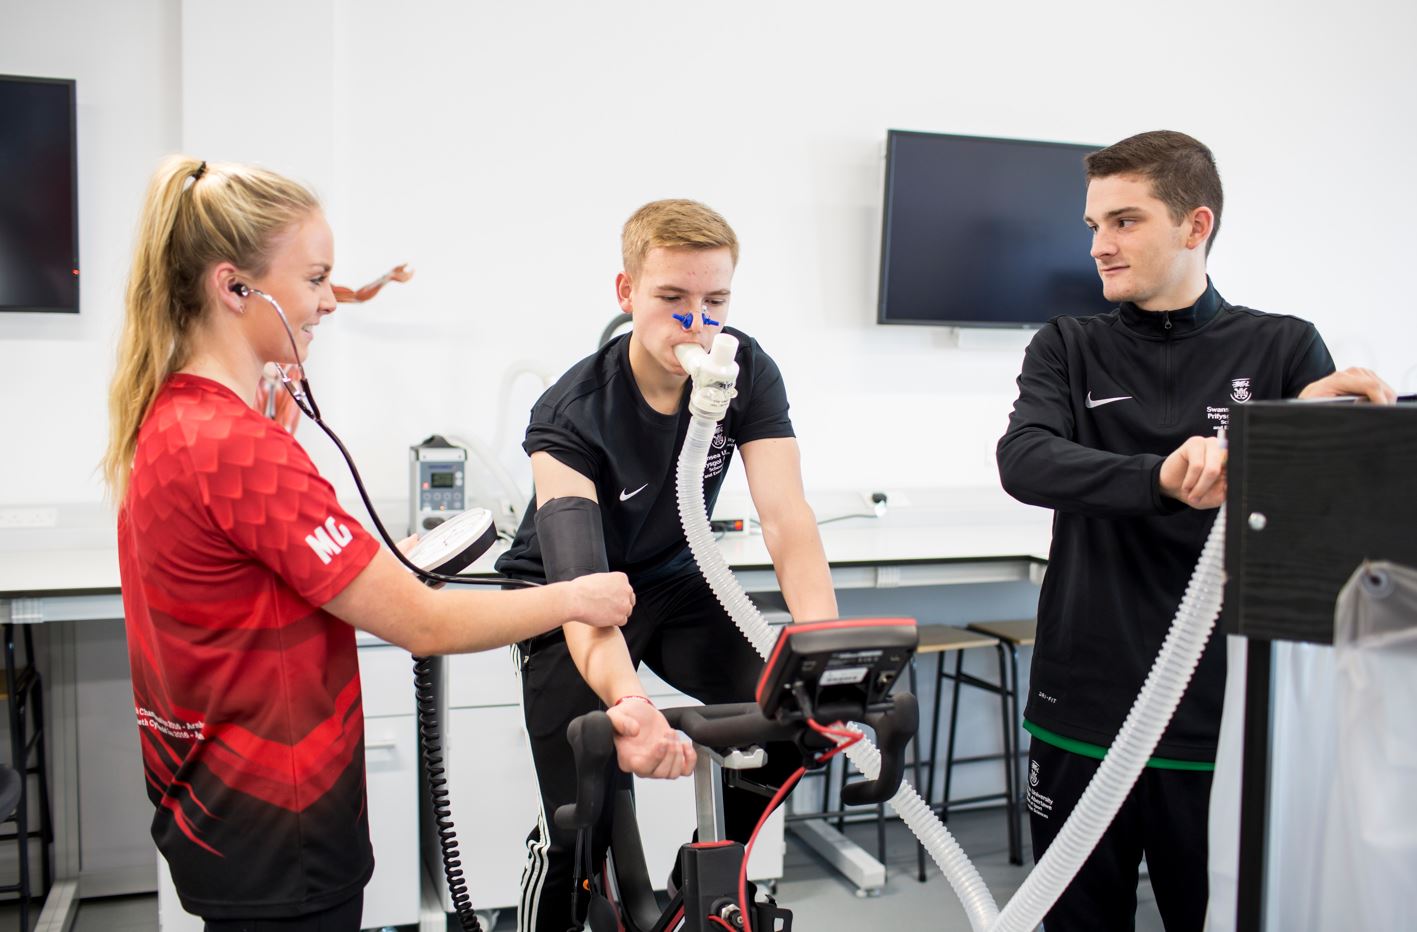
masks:
{"type": "MultiPolygon", "coordinates": [[[[809,500],[819,518],[867,510],[859,493],[823,491],[809,494],[809,500]]],[[[726,513],[724,504],[720,501],[720,514],[726,513]]],[[[401,514],[383,507],[381,513],[401,514]]],[[[922,489],[894,493],[890,511],[881,518],[826,524],[822,538],[839,591],[900,589],[1037,582],[1050,528],[1049,511],[1022,506],[999,489],[922,489]]],[[[65,932],[79,897],[156,888],[147,834],[150,805],[132,727],[126,646],[122,626],[115,623],[122,619],[122,602],[113,538],[112,517],[99,506],[58,506],[55,527],[0,530],[0,623],[43,625],[38,653],[50,715],[57,882],[41,914],[41,932],[65,932]]],[[[728,534],[720,540],[720,548],[747,591],[777,589],[760,534],[728,534]]],[[[465,844],[465,856],[483,846],[490,850],[496,841],[499,871],[510,873],[514,884],[536,796],[529,779],[530,755],[519,738],[521,721],[512,666],[502,650],[452,663],[455,673],[449,681],[466,684],[456,690],[473,690],[468,695],[453,693],[448,710],[448,729],[453,735],[449,771],[479,778],[476,790],[459,795],[456,785],[451,788],[455,819],[472,843],[465,844]],[[480,734],[482,741],[496,735],[500,744],[473,751],[456,737],[469,729],[480,734]],[[465,755],[475,762],[459,766],[465,755]],[[489,768],[489,761],[506,766],[489,768]],[[492,792],[483,778],[496,780],[507,795],[492,792]],[[523,796],[517,805],[514,800],[523,796]],[[514,854],[502,850],[503,839],[514,839],[514,854]],[[503,870],[507,865],[514,871],[503,870]]],[[[368,925],[414,922],[405,918],[408,907],[402,905],[412,902],[405,898],[418,897],[419,884],[417,848],[410,848],[410,839],[417,846],[419,823],[411,814],[418,805],[411,664],[405,652],[361,639],[360,667],[371,831],[378,861],[366,894],[366,921],[368,925]]],[[[669,817],[662,813],[670,812],[691,823],[691,809],[680,805],[674,792],[690,793],[689,782],[680,780],[673,789],[650,786],[640,797],[642,823],[657,823],[669,817]],[[667,793],[665,799],[659,799],[660,792],[667,793]]],[[[652,863],[660,858],[656,846],[652,841],[646,851],[652,863]]],[[[774,846],[765,848],[771,856],[774,846]]],[[[775,850],[781,858],[781,846],[775,850]]],[[[758,873],[757,861],[754,870],[758,873]]],[[[781,865],[764,871],[772,871],[762,873],[764,877],[777,875],[781,865]]],[[[472,870],[469,875],[476,878],[479,873],[472,870]]],[[[482,881],[473,884],[473,902],[479,909],[482,904],[506,901],[495,892],[502,887],[487,888],[479,898],[478,882],[482,881]]],[[[495,882],[504,884],[506,878],[495,882]]]]}

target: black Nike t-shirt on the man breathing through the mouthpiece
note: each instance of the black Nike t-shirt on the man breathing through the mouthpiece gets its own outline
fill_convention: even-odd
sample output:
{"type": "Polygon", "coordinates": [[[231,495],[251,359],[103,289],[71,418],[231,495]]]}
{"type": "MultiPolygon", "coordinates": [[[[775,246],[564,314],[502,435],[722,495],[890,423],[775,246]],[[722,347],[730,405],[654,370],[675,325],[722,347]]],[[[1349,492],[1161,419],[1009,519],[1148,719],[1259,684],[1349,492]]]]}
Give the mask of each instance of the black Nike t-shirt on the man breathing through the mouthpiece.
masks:
{"type": "MultiPolygon", "coordinates": [[[[733,450],[765,438],[794,436],[788,395],[777,363],[752,337],[738,337],[738,395],[718,422],[704,466],[704,501],[713,510],[733,450]]],[[[684,384],[684,401],[691,385],[684,384]]],[[[679,523],[674,466],[689,431],[689,407],[660,414],[649,407],[629,367],[629,337],[619,337],[572,365],[531,408],[523,449],[546,452],[595,483],[611,569],[648,582],[690,559],[679,523]]],[[[497,571],[544,579],[536,535],[536,497],[497,571]]]]}

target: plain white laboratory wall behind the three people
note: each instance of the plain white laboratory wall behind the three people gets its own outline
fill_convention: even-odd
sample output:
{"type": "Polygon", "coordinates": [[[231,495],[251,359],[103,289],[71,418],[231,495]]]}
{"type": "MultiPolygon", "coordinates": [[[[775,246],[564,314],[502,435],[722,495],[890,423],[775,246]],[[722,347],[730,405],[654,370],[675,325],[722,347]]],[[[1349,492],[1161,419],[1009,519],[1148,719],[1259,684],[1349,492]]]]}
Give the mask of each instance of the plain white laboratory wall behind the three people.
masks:
{"type": "MultiPolygon", "coordinates": [[[[874,323],[888,127],[1083,143],[1190,132],[1227,188],[1221,293],[1308,317],[1340,364],[1417,391],[1410,4],[0,10],[0,71],[79,79],[85,265],[79,319],[0,319],[0,503],[99,494],[128,232],[146,173],[176,146],[313,184],[337,280],[418,268],[322,326],[310,365],[377,499],[404,494],[404,450],[431,432],[521,465],[536,380],[503,375],[560,373],[594,347],[616,312],[621,222],[679,195],[738,231],[731,322],[786,374],[808,487],[995,482],[1022,341],[956,347],[874,323]]],[[[323,438],[300,436],[347,494],[323,438]]]]}

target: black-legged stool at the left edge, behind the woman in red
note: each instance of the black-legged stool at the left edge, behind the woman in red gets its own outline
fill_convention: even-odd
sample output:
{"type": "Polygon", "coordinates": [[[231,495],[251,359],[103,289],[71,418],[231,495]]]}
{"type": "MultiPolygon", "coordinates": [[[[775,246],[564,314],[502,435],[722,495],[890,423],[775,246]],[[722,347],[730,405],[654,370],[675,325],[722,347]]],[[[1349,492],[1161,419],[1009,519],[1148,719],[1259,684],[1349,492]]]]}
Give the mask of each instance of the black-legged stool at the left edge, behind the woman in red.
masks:
{"type": "MultiPolygon", "coordinates": [[[[50,817],[50,769],[44,748],[44,683],[34,666],[34,636],[28,625],[24,630],[24,663],[16,663],[14,623],[4,626],[4,698],[10,711],[10,766],[18,786],[14,788],[14,809],[4,822],[14,822],[14,834],[0,836],[0,841],[14,840],[20,861],[17,884],[0,887],[0,892],[20,895],[20,928],[30,928],[30,839],[40,839],[41,895],[48,895],[50,848],[54,844],[54,823],[50,817]],[[30,776],[38,778],[40,829],[30,829],[30,776]]],[[[6,802],[7,780],[0,778],[0,803],[6,802]]]]}

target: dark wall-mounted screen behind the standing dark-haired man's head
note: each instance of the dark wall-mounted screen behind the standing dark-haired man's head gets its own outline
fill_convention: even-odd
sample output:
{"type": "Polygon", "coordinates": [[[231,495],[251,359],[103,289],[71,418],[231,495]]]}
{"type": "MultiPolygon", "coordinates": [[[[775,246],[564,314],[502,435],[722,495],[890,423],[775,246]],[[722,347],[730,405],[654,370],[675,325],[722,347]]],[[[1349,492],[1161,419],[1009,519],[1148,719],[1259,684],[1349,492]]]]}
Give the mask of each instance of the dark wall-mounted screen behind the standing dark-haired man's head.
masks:
{"type": "Polygon", "coordinates": [[[1083,222],[1097,149],[890,130],[877,323],[1017,329],[1110,310],[1083,222]]]}

